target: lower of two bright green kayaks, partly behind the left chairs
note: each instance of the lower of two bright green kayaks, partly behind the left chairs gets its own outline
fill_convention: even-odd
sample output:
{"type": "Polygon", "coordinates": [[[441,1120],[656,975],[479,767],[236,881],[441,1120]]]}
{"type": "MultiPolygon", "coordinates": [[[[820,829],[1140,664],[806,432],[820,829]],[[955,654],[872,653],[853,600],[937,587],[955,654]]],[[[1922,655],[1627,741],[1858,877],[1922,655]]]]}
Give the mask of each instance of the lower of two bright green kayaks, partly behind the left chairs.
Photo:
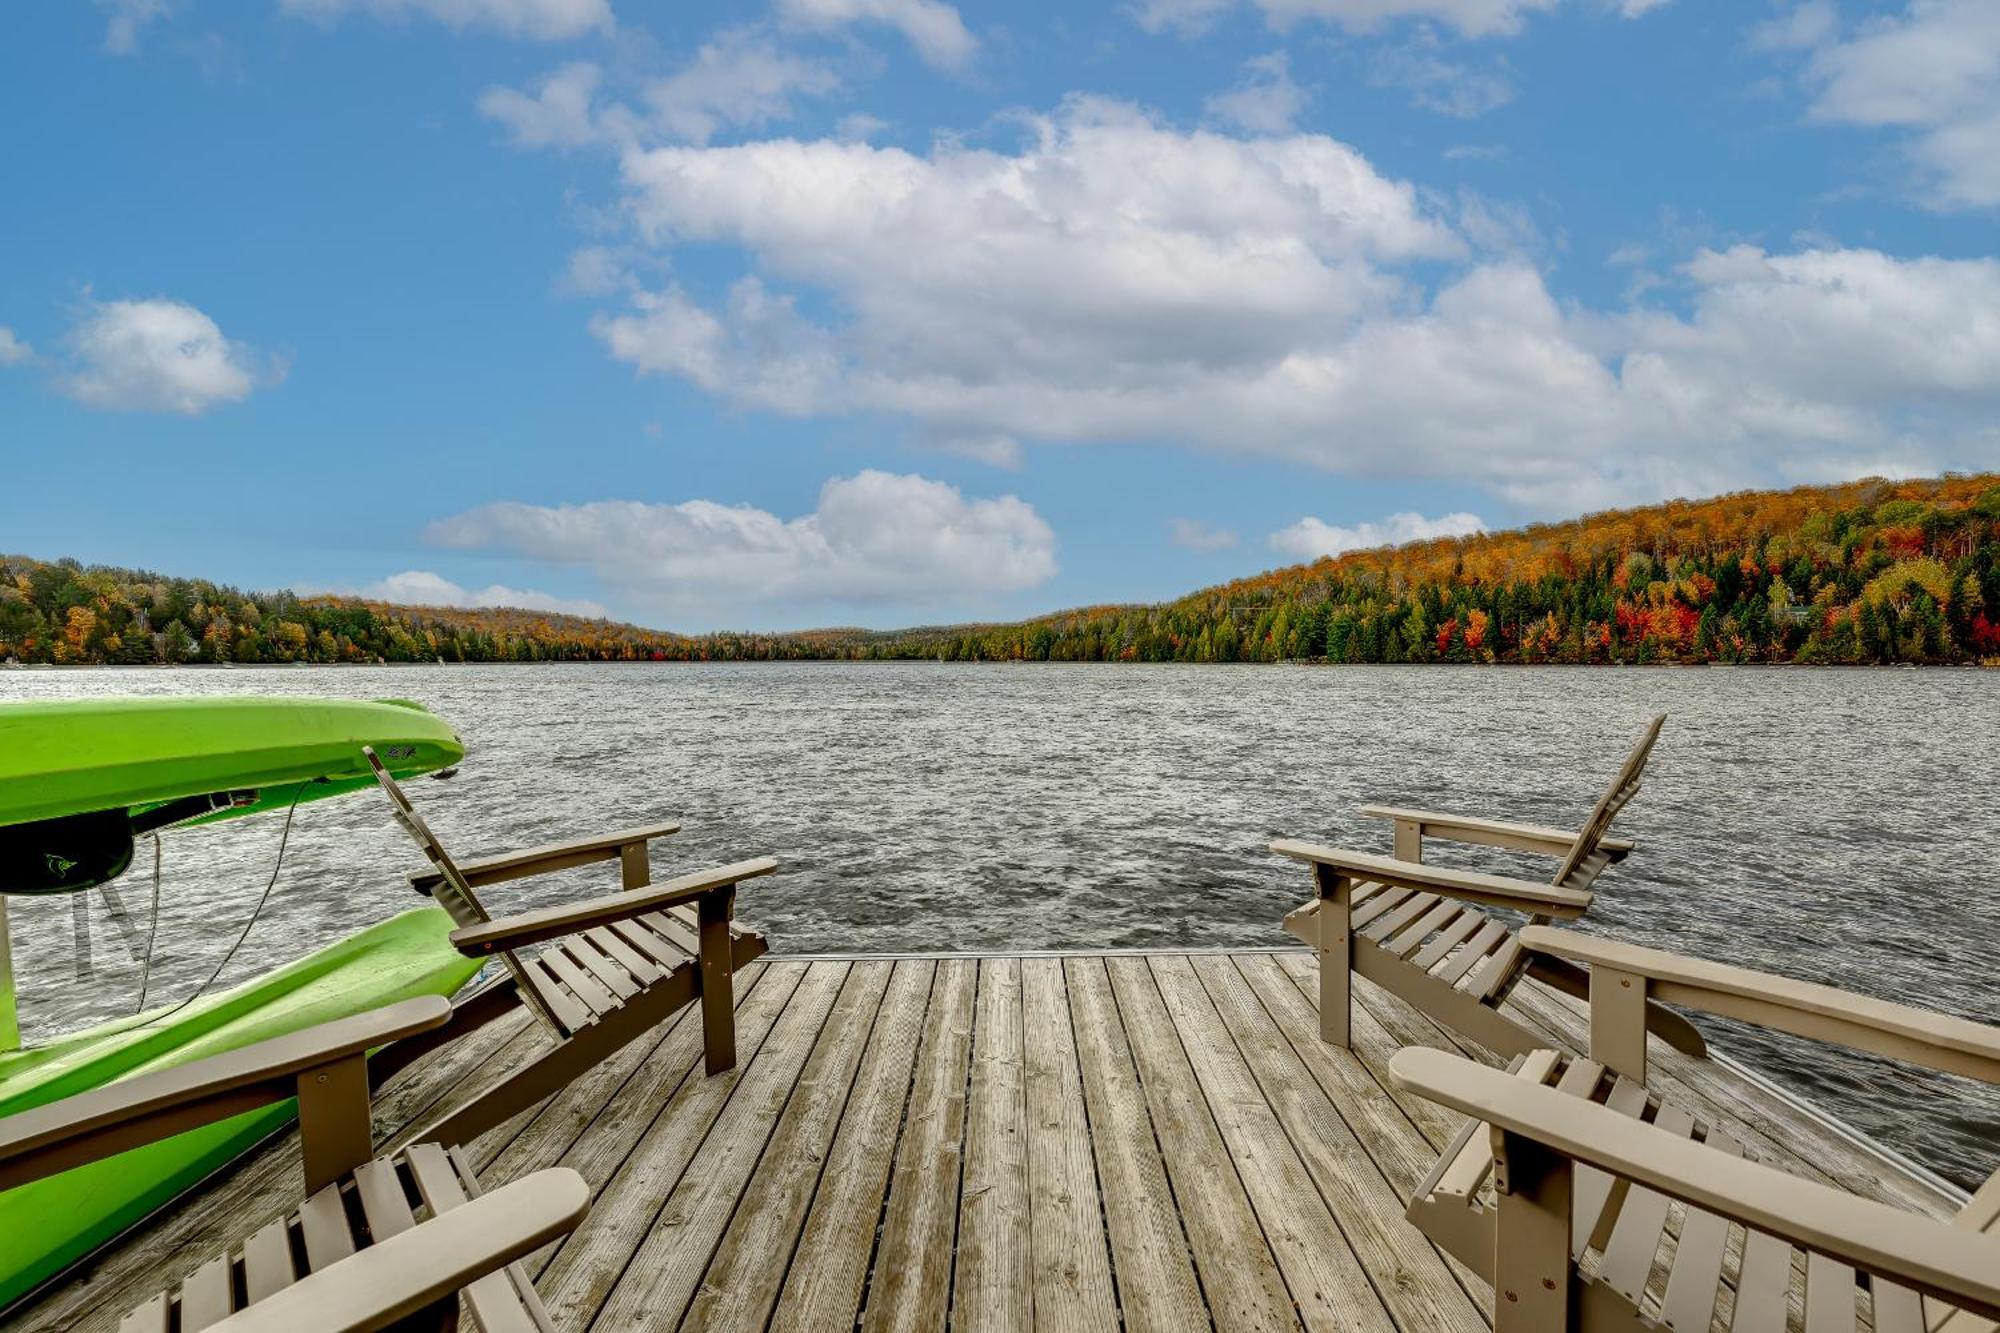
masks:
{"type": "MultiPolygon", "coordinates": [[[[0,1115],[172,1069],[416,995],[452,995],[480,969],[420,907],[154,1021],[118,1019],[0,1055],[0,1115]]],[[[114,1239],[296,1115],[286,1101],[0,1193],[0,1309],[114,1239]]]]}

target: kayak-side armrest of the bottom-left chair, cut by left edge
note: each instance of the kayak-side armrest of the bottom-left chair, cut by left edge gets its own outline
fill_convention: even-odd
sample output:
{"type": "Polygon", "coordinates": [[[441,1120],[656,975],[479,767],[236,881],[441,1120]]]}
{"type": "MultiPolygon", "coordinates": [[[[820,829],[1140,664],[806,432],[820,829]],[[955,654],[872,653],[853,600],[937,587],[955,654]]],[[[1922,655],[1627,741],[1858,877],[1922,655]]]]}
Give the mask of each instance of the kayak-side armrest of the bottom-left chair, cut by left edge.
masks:
{"type": "Polygon", "coordinates": [[[300,1075],[362,1059],[450,1017],[442,995],[420,995],[8,1115],[0,1119],[0,1189],[296,1097],[300,1075]]]}

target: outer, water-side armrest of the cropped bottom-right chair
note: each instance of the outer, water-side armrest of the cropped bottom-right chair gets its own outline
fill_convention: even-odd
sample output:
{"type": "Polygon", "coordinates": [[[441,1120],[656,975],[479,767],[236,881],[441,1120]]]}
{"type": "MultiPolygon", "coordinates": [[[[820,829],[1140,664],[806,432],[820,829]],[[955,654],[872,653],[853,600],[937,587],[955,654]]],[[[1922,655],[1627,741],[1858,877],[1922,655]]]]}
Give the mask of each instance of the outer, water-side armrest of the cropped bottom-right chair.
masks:
{"type": "Polygon", "coordinates": [[[2000,1083],[2000,1027],[1988,1023],[1576,931],[1528,927],[1520,941],[1534,953],[1642,977],[1656,1001],[2000,1083]]]}

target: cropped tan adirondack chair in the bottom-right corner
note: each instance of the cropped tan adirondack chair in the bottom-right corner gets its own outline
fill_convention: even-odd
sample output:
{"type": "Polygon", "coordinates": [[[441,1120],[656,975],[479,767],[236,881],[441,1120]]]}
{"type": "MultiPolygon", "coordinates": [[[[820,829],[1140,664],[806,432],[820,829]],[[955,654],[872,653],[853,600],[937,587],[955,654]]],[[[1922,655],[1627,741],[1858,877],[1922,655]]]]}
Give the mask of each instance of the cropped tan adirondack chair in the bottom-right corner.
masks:
{"type": "Polygon", "coordinates": [[[1992,1333],[2000,1171],[1946,1223],[1748,1161],[1724,1131],[1648,1095],[1640,1003],[1990,1083],[2000,1029],[1570,931],[1522,941],[1590,965],[1588,1057],[1534,1051],[1506,1073],[1418,1049],[1390,1063],[1402,1087],[1474,1117],[1410,1221],[1494,1283],[1498,1333],[1992,1333]],[[1684,1205],[1678,1225],[1670,1201],[1684,1205]]]}

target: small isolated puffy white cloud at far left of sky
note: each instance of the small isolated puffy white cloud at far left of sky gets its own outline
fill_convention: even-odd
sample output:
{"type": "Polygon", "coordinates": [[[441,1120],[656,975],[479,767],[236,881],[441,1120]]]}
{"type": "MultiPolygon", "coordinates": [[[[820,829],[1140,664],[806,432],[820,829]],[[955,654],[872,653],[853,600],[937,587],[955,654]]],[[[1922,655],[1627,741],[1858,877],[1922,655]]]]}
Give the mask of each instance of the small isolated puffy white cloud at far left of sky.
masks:
{"type": "Polygon", "coordinates": [[[94,408],[200,416],[282,378],[212,318],[162,296],[92,302],[70,330],[70,354],[58,386],[94,408]]]}

